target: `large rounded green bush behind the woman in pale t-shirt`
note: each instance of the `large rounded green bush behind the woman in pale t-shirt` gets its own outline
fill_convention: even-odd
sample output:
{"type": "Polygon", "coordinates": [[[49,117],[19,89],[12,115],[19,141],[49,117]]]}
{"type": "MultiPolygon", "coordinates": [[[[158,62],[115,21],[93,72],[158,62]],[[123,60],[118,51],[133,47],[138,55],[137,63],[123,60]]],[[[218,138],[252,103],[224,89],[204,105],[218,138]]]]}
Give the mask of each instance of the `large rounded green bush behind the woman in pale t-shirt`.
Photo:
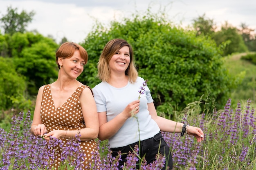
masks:
{"type": "Polygon", "coordinates": [[[97,24],[82,44],[89,61],[80,81],[91,87],[99,83],[97,62],[104,45],[114,38],[132,45],[139,76],[148,79],[158,111],[166,112],[170,106],[183,109],[209,92],[221,104],[234,87],[214,41],[171,25],[162,13],[150,12],[112,22],[109,29],[97,24]]]}

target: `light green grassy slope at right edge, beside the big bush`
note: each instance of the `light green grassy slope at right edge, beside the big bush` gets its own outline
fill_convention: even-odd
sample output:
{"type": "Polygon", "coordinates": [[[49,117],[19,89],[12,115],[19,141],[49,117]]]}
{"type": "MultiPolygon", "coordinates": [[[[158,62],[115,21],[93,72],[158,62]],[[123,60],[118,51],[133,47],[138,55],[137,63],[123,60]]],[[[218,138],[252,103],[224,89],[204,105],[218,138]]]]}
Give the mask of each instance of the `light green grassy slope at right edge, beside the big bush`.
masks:
{"type": "Polygon", "coordinates": [[[225,58],[225,66],[231,75],[240,77],[240,85],[231,94],[232,103],[236,104],[239,100],[241,104],[247,99],[252,100],[252,106],[256,107],[256,65],[241,59],[247,53],[234,54],[225,58]]]}

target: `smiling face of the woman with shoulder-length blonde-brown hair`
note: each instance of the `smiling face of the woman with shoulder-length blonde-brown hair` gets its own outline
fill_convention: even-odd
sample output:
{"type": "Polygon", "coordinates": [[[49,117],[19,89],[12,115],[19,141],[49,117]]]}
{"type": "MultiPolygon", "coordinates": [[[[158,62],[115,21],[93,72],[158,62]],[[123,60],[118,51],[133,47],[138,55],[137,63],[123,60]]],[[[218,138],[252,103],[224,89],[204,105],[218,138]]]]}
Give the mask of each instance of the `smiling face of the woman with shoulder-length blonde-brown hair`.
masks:
{"type": "Polygon", "coordinates": [[[129,47],[124,46],[120,48],[110,59],[109,68],[110,73],[125,73],[130,64],[129,47]]]}

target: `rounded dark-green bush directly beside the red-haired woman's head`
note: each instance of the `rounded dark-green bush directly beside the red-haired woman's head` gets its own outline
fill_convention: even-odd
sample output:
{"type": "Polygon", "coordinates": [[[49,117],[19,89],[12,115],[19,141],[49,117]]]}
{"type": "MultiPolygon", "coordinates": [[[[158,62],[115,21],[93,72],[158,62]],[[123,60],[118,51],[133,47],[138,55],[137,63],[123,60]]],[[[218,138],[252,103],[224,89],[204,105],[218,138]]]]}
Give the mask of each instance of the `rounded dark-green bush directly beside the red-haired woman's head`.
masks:
{"type": "Polygon", "coordinates": [[[52,83],[57,78],[56,48],[47,42],[38,42],[24,48],[21,57],[15,58],[16,70],[26,76],[31,95],[36,95],[42,85],[52,83]]]}

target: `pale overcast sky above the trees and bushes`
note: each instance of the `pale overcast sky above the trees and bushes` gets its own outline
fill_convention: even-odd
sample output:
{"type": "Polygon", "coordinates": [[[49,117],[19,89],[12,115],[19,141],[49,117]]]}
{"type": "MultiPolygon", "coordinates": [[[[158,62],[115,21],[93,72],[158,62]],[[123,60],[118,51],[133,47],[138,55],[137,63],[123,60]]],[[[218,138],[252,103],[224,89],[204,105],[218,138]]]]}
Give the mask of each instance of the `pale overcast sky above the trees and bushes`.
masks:
{"type": "Polygon", "coordinates": [[[193,19],[205,13],[219,26],[227,21],[236,27],[245,23],[256,29],[256,0],[0,0],[0,17],[9,6],[19,12],[35,11],[27,29],[52,35],[57,42],[65,36],[68,41],[80,43],[96,20],[108,26],[135,11],[145,13],[148,7],[153,13],[165,10],[177,25],[191,25],[193,19]]]}

